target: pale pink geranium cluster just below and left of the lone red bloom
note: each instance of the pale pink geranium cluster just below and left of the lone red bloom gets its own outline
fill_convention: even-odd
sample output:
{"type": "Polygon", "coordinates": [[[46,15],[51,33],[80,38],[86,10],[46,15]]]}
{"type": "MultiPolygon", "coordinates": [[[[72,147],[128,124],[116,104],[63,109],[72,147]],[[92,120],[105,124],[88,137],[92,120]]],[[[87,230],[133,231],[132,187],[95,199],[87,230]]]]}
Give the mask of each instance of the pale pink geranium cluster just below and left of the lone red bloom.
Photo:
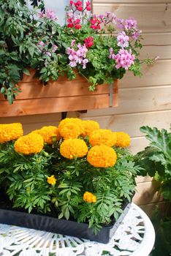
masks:
{"type": "Polygon", "coordinates": [[[88,59],[86,59],[86,53],[88,49],[86,45],[77,44],[77,50],[74,48],[67,48],[66,53],[69,55],[69,66],[77,67],[77,64],[83,65],[83,69],[86,69],[88,59]]]}

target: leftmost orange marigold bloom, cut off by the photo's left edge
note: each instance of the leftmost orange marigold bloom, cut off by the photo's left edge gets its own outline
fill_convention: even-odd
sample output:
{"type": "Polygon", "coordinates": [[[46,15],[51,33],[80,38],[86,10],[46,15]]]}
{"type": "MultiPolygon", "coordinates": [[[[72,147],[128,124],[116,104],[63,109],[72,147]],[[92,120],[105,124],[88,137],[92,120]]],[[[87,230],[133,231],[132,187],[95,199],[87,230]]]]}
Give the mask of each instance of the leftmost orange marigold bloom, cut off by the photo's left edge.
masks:
{"type": "Polygon", "coordinates": [[[0,124],[0,143],[17,140],[23,135],[23,127],[20,123],[0,124]]]}

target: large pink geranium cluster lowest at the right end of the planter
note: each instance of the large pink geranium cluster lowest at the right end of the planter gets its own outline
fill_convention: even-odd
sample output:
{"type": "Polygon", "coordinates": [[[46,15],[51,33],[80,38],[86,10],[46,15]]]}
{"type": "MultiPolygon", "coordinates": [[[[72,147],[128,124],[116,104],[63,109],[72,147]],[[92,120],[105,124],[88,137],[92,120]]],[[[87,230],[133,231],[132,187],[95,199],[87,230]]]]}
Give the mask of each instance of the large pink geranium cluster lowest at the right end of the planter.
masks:
{"type": "Polygon", "coordinates": [[[134,64],[134,55],[132,54],[132,50],[129,49],[120,49],[118,53],[115,55],[113,53],[113,48],[110,48],[110,59],[115,59],[116,61],[116,69],[120,69],[123,67],[124,69],[129,69],[132,64],[134,64]]]}

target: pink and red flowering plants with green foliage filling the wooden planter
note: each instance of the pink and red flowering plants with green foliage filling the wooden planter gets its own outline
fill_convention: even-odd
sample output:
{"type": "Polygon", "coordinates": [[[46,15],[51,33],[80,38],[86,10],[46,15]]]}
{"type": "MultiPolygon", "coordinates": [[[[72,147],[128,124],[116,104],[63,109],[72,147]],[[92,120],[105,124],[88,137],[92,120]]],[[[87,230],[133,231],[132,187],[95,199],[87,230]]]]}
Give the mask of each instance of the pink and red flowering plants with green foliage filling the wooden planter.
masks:
{"type": "Polygon", "coordinates": [[[0,93],[10,104],[29,69],[35,69],[45,85],[60,75],[75,79],[78,72],[90,82],[91,91],[97,84],[121,79],[126,69],[141,74],[141,36],[133,18],[88,15],[90,1],[85,8],[81,1],[70,1],[66,25],[60,26],[54,12],[45,10],[43,0],[32,0],[31,5],[34,10],[24,0],[0,0],[0,93]]]}

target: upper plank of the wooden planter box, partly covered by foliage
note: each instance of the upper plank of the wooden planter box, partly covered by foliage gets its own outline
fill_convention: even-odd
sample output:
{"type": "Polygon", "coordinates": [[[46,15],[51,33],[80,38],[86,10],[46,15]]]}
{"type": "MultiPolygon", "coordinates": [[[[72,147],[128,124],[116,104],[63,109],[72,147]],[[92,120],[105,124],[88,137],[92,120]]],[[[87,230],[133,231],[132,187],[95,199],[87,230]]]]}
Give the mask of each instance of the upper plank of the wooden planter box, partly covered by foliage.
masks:
{"type": "MultiPolygon", "coordinates": [[[[89,91],[90,84],[85,78],[80,76],[76,80],[68,80],[59,78],[56,81],[50,81],[47,86],[43,86],[40,80],[29,76],[24,76],[24,80],[19,83],[21,93],[18,93],[16,99],[39,99],[39,98],[54,98],[54,97],[77,97],[82,95],[100,95],[109,94],[109,84],[96,86],[95,91],[89,91]]],[[[113,94],[118,93],[118,80],[113,83],[113,94]]],[[[0,94],[1,101],[5,101],[0,94]]]]}

